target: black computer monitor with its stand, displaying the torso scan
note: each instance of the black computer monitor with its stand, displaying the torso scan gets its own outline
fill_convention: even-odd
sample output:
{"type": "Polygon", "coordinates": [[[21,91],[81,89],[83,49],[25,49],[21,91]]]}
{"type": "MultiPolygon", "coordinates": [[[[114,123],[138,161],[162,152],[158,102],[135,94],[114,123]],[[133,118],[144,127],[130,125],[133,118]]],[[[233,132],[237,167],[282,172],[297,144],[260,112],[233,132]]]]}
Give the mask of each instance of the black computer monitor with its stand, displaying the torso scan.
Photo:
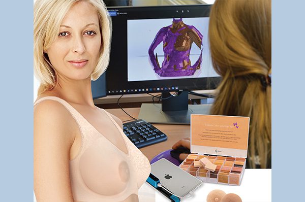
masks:
{"type": "Polygon", "coordinates": [[[152,123],[189,124],[191,113],[207,113],[188,106],[188,91],[215,89],[220,81],[208,45],[210,7],[109,7],[107,95],[161,92],[161,105],[141,106],[139,118],[152,123]]]}

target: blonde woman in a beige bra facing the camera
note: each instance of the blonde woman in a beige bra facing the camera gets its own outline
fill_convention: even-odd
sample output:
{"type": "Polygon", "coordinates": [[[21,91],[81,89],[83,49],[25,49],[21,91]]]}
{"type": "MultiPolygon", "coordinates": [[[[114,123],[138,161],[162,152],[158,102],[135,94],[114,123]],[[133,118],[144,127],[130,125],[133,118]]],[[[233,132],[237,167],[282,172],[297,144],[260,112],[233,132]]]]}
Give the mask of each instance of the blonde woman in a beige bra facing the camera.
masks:
{"type": "Polygon", "coordinates": [[[101,0],[37,0],[34,106],[37,201],[138,201],[148,159],[121,121],[95,107],[91,80],[109,62],[111,20],[101,0]]]}

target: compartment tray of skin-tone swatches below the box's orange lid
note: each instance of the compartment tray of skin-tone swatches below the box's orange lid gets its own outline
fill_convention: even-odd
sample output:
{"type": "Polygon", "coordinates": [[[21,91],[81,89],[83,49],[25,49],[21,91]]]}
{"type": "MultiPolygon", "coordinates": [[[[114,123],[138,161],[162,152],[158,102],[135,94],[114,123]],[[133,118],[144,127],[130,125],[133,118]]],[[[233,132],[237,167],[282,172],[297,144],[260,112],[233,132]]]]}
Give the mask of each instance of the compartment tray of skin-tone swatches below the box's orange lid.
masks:
{"type": "Polygon", "coordinates": [[[179,167],[203,182],[240,185],[246,158],[190,154],[179,167]],[[200,166],[199,160],[204,157],[217,165],[215,172],[200,166]]]}

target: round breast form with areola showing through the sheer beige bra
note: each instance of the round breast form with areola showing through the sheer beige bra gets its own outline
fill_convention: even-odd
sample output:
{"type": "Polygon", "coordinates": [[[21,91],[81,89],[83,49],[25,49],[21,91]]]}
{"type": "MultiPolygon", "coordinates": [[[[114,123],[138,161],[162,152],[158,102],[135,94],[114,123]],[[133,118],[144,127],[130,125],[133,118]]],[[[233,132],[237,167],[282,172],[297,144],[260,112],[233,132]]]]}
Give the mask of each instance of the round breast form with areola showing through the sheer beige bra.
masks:
{"type": "Polygon", "coordinates": [[[82,154],[79,169],[86,186],[102,195],[123,192],[130,179],[130,170],[123,153],[99,138],[82,154]],[[106,148],[105,148],[106,146],[106,148]]]}

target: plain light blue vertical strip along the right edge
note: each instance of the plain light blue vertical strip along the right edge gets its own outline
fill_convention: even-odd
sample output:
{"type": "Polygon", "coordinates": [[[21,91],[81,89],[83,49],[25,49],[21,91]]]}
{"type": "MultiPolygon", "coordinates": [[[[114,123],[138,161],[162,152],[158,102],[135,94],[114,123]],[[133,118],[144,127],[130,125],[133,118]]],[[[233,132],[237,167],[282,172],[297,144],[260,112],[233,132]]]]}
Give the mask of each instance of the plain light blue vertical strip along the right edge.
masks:
{"type": "Polygon", "coordinates": [[[274,202],[304,201],[305,198],[304,9],[304,1],[272,1],[274,202]]]}

